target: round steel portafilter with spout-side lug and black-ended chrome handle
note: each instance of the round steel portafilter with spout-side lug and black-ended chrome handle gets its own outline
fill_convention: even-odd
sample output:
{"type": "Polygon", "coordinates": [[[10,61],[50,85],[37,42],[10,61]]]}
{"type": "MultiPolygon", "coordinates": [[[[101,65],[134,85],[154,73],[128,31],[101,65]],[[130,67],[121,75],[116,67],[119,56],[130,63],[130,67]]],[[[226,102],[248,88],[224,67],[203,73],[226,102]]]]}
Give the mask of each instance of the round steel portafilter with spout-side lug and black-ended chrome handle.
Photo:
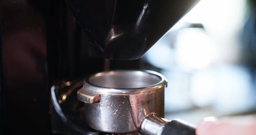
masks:
{"type": "Polygon", "coordinates": [[[163,75],[153,71],[109,71],[90,76],[77,97],[87,124],[108,133],[195,134],[195,127],[164,117],[163,75]]]}

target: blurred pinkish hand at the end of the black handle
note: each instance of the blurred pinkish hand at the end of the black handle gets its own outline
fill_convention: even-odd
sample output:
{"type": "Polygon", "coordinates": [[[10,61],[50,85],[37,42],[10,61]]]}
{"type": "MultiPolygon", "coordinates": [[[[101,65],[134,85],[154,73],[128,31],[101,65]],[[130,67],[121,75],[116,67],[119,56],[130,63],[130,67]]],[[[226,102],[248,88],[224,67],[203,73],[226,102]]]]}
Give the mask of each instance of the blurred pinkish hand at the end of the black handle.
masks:
{"type": "Polygon", "coordinates": [[[221,119],[205,118],[198,124],[196,134],[256,134],[256,116],[225,117],[221,119]]]}

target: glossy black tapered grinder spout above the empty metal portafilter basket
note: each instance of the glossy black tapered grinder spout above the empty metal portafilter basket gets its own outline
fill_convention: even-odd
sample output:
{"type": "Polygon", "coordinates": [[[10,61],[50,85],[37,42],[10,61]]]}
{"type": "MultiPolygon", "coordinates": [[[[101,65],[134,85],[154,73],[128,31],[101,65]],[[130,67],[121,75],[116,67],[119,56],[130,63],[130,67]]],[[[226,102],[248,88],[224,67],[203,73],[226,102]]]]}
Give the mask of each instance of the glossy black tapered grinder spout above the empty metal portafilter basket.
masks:
{"type": "Polygon", "coordinates": [[[199,0],[66,0],[89,43],[109,59],[146,53],[199,0]]]}

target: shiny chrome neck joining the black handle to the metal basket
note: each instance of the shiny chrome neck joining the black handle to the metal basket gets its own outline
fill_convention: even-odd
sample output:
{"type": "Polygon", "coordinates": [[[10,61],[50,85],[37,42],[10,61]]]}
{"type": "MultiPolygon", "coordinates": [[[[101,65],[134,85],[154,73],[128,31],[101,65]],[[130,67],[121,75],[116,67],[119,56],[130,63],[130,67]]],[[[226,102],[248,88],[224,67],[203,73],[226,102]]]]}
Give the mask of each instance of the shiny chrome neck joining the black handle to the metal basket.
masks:
{"type": "Polygon", "coordinates": [[[150,115],[143,120],[140,132],[143,135],[160,135],[167,123],[167,120],[160,118],[155,114],[150,115]]]}

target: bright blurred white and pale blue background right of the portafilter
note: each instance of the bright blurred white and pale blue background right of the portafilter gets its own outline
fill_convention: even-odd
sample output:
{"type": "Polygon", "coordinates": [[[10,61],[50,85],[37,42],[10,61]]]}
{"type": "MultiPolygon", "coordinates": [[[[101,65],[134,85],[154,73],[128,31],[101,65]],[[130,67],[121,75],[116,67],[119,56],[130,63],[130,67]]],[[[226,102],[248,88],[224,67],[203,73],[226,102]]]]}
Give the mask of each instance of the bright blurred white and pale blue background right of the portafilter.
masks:
{"type": "Polygon", "coordinates": [[[254,5],[202,0],[143,56],[168,79],[165,118],[256,112],[254,5]]]}

